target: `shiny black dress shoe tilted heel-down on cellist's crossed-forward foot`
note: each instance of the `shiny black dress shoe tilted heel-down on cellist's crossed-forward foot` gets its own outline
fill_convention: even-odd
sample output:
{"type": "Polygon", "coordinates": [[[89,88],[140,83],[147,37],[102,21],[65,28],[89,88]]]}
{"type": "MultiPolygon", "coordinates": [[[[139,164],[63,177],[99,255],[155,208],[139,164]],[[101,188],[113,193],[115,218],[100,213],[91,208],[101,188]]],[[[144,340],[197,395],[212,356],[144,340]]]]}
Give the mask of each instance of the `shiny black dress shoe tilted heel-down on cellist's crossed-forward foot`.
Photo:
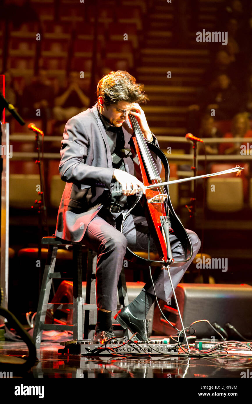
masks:
{"type": "Polygon", "coordinates": [[[131,314],[128,307],[125,306],[114,316],[114,319],[119,322],[123,328],[129,328],[129,330],[135,334],[138,341],[148,341],[148,331],[150,320],[141,320],[131,314]]]}

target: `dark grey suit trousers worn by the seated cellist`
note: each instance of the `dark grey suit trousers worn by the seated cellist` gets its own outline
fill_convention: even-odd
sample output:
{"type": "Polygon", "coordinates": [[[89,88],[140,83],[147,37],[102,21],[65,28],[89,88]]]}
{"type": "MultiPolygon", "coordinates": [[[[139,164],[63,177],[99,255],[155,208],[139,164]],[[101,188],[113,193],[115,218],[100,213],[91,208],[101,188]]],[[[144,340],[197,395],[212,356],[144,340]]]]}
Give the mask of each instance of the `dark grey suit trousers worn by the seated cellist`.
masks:
{"type": "MultiPolygon", "coordinates": [[[[132,250],[148,251],[148,225],[143,216],[129,215],[123,226],[123,233],[116,229],[116,220],[121,213],[110,213],[101,209],[89,223],[83,243],[97,252],[96,267],[96,296],[97,307],[105,310],[116,310],[117,283],[123,267],[123,259],[127,245],[132,250]]],[[[170,267],[174,288],[180,282],[186,269],[199,251],[201,242],[196,233],[187,230],[193,246],[193,256],[180,267],[170,267]]],[[[174,259],[183,259],[184,253],[180,241],[170,234],[170,243],[174,259]]],[[[155,244],[150,237],[150,251],[155,251],[155,244]]],[[[172,297],[172,287],[166,269],[157,267],[152,276],[157,297],[168,301],[172,297]]],[[[146,292],[155,295],[152,282],[148,280],[144,288],[146,292]]]]}

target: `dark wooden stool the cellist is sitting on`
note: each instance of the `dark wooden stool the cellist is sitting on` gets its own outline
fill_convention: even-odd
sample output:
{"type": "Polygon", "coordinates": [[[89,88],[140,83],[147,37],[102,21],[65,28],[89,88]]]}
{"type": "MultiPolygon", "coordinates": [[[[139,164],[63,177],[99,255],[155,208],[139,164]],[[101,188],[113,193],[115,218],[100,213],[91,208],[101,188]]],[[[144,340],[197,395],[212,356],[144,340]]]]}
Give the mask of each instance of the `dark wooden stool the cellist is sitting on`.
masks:
{"type": "MultiPolygon", "coordinates": [[[[40,290],[38,309],[34,323],[33,339],[36,344],[36,348],[40,347],[43,330],[70,330],[73,331],[73,339],[90,339],[92,336],[93,316],[90,315],[90,311],[97,310],[95,302],[95,268],[96,268],[96,254],[92,250],[88,249],[87,258],[87,286],[86,286],[86,298],[83,302],[83,288],[82,288],[82,248],[84,244],[78,242],[72,242],[62,240],[57,237],[43,237],[42,244],[49,245],[47,261],[44,269],[44,275],[42,279],[42,286],[40,290]],[[72,248],[72,276],[63,276],[60,272],[54,272],[55,261],[57,256],[57,250],[59,246],[66,246],[66,248],[72,248]],[[55,304],[49,303],[49,295],[51,290],[52,279],[71,279],[73,282],[73,303],[55,304]],[[73,310],[73,324],[45,324],[45,318],[48,309],[72,309],[73,310]],[[83,324],[83,310],[85,310],[84,324],[83,324]]],[[[118,282],[118,294],[119,305],[117,310],[121,309],[128,302],[127,287],[125,282],[125,274],[122,269],[121,276],[118,282]]],[[[129,337],[128,330],[125,331],[125,335],[129,337]]]]}

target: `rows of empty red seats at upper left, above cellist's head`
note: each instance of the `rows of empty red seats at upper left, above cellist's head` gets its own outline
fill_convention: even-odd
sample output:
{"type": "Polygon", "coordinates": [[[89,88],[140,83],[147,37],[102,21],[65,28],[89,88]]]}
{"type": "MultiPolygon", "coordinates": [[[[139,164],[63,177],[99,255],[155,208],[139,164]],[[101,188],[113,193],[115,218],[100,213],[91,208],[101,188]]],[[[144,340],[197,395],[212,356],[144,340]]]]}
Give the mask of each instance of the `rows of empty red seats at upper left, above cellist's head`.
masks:
{"type": "MultiPolygon", "coordinates": [[[[134,65],[134,52],[138,52],[144,2],[133,7],[117,7],[116,1],[105,2],[99,8],[97,26],[97,63],[114,69],[129,69],[134,65]],[[111,8],[108,8],[108,6],[111,8]],[[111,29],[113,27],[113,29],[111,29]],[[127,34],[127,40],[125,40],[127,34]],[[121,43],[120,43],[121,42],[121,43]],[[125,43],[126,42],[126,43],[125,43]],[[102,59],[102,60],[101,60],[102,59]],[[103,63],[105,62],[105,64],[103,63]]],[[[93,55],[95,6],[86,3],[32,1],[38,21],[10,27],[6,66],[18,77],[31,80],[36,68],[46,69],[49,76],[63,76],[69,70],[84,70],[90,77],[93,55]],[[59,3],[57,6],[56,3],[59,3]],[[56,6],[55,6],[56,4],[56,6]],[[80,67],[83,66],[83,69],[80,67]]],[[[10,24],[11,25],[11,24],[10,24]]],[[[0,42],[3,38],[0,27],[0,42]]],[[[2,50],[2,46],[1,46],[2,50]]]]}

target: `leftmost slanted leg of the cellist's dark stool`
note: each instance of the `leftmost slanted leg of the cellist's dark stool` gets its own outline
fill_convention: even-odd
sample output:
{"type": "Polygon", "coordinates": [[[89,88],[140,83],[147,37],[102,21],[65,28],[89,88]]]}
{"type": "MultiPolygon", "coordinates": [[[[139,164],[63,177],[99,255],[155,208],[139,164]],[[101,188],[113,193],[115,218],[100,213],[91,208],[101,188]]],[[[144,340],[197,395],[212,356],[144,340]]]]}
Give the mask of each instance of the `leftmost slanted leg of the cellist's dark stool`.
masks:
{"type": "Polygon", "coordinates": [[[45,317],[47,314],[47,305],[49,302],[50,290],[52,279],[49,278],[50,274],[53,273],[55,267],[55,261],[57,256],[58,246],[49,245],[47,254],[47,263],[44,268],[44,275],[42,279],[42,286],[40,290],[38,309],[34,323],[34,330],[32,338],[35,342],[36,348],[40,347],[42,332],[40,329],[40,324],[44,324],[45,317]]]}

